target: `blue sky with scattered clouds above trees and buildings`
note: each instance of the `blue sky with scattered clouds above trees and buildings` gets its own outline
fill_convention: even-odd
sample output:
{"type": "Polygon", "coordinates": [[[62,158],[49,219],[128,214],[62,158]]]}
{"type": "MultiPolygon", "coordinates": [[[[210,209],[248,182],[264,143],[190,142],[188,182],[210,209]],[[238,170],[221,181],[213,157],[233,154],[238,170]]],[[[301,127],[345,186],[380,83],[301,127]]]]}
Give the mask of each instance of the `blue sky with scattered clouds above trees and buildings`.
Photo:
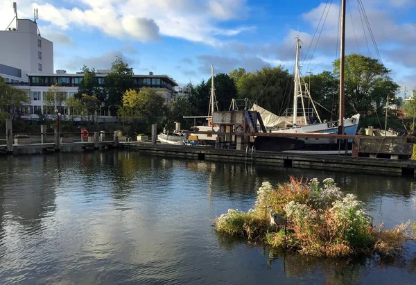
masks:
{"type": "MultiPolygon", "coordinates": [[[[347,53],[377,58],[358,1],[347,2],[347,53]]],[[[399,85],[416,88],[416,1],[362,3],[381,60],[399,85]]],[[[19,17],[29,19],[33,8],[39,9],[40,32],[54,42],[55,69],[69,72],[83,64],[108,69],[119,55],[135,74],[167,74],[184,85],[207,79],[209,64],[216,73],[277,64],[292,69],[296,35],[304,42],[303,74],[308,68],[332,69],[338,51],[338,0],[21,0],[17,5],[19,17]],[[306,56],[322,13],[320,40],[316,44],[315,36],[306,56]]],[[[12,1],[0,0],[0,26],[6,28],[12,17],[12,1]]]]}

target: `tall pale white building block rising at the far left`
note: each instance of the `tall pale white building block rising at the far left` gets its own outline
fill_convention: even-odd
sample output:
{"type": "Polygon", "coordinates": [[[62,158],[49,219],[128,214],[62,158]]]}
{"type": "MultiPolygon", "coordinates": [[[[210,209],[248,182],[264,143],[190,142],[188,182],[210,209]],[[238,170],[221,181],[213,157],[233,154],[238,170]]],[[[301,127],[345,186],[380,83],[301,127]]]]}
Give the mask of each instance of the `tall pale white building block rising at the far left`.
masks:
{"type": "Polygon", "coordinates": [[[6,83],[27,83],[26,74],[53,74],[53,42],[40,35],[35,21],[17,19],[0,31],[0,76],[6,83]]]}

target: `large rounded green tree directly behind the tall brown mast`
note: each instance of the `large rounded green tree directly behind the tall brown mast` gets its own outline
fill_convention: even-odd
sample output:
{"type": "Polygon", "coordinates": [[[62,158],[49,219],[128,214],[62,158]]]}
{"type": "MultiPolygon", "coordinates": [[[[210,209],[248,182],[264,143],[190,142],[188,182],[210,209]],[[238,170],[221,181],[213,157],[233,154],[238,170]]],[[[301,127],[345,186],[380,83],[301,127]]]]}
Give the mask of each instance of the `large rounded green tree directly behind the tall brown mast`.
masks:
{"type": "MultiPolygon", "coordinates": [[[[333,74],[340,74],[340,60],[333,62],[333,74]]],[[[382,112],[388,98],[395,100],[399,90],[390,70],[374,58],[351,54],[345,57],[345,116],[356,112],[366,116],[382,112]]]]}

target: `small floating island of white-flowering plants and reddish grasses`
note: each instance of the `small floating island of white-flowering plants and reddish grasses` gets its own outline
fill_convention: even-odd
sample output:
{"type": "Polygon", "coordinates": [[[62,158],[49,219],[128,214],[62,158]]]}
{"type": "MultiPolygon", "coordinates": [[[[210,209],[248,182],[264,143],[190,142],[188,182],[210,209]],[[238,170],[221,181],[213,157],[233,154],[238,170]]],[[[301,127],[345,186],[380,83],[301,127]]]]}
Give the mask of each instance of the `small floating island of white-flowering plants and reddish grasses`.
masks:
{"type": "Polygon", "coordinates": [[[394,229],[374,228],[363,203],[352,194],[345,195],[331,178],[322,183],[291,178],[275,188],[263,182],[252,209],[229,209],[216,218],[215,225],[219,233],[318,257],[399,254],[404,241],[415,232],[415,224],[410,222],[394,229]],[[270,224],[269,206],[272,214],[286,219],[286,234],[270,224]]]}

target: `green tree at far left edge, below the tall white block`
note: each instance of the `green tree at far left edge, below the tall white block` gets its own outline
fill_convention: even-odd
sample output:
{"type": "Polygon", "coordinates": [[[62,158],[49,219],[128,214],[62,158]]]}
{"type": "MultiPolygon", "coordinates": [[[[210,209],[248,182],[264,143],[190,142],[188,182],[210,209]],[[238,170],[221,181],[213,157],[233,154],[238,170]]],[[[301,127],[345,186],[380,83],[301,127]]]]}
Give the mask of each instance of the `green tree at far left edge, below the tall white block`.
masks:
{"type": "Polygon", "coordinates": [[[15,119],[27,103],[30,103],[28,92],[7,85],[0,76],[0,119],[15,119]]]}

